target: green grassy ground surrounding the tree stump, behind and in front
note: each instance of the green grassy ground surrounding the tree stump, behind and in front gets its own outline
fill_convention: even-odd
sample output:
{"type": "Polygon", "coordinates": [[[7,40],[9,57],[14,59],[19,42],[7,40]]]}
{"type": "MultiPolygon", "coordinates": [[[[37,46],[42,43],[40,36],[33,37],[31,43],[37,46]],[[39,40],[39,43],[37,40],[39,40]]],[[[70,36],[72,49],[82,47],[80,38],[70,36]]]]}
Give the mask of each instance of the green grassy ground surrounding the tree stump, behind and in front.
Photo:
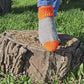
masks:
{"type": "MultiPolygon", "coordinates": [[[[12,0],[11,13],[0,14],[0,34],[5,30],[38,30],[37,11],[37,0],[12,0]]],[[[72,35],[84,43],[84,1],[60,4],[55,23],[58,32],[72,35]]],[[[64,84],[78,84],[80,79],[83,84],[84,72],[81,67],[83,68],[83,64],[77,77],[71,73],[67,80],[64,79],[64,84]]],[[[7,80],[3,80],[1,84],[31,84],[29,77],[15,80],[14,77],[6,75],[5,78],[7,80]]],[[[58,83],[53,80],[53,84],[58,83]]]]}

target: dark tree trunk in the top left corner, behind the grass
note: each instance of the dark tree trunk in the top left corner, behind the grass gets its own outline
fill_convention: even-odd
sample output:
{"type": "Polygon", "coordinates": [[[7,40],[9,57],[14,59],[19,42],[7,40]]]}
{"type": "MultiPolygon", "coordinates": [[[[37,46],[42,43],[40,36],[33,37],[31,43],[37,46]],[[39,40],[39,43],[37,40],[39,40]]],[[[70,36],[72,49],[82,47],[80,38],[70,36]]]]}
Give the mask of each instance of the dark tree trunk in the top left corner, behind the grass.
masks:
{"type": "Polygon", "coordinates": [[[11,10],[11,0],[0,0],[0,13],[7,13],[11,10]]]}

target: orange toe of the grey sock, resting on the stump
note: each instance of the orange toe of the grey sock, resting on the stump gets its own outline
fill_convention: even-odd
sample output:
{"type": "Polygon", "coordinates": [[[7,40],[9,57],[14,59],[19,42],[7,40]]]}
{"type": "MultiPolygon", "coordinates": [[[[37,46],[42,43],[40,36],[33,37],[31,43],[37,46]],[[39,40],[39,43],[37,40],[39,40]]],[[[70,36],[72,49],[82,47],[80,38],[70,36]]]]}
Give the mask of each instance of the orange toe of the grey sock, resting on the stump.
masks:
{"type": "Polygon", "coordinates": [[[60,41],[48,41],[44,43],[44,48],[46,48],[48,51],[55,51],[59,45],[60,41]]]}

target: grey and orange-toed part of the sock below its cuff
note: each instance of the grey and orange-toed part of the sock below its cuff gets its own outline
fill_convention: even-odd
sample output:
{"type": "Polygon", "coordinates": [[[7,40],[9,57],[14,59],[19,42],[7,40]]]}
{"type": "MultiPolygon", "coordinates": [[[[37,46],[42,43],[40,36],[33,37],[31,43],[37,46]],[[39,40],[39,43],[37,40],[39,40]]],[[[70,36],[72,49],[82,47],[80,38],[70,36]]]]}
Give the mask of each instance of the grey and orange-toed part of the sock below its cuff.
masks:
{"type": "Polygon", "coordinates": [[[39,20],[39,39],[41,44],[48,51],[55,51],[59,44],[54,19],[46,17],[39,20]]]}

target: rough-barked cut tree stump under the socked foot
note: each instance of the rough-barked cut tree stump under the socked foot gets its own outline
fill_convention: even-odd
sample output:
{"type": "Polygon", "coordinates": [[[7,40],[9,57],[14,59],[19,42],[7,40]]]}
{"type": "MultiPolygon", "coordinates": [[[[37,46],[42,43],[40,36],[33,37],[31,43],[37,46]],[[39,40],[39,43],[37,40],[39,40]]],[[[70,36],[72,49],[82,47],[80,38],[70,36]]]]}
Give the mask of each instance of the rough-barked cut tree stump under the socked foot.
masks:
{"type": "Polygon", "coordinates": [[[46,51],[37,31],[5,31],[0,36],[0,70],[4,73],[28,75],[37,81],[60,78],[75,65],[84,62],[84,45],[78,39],[58,33],[61,40],[54,52],[46,51]]]}

